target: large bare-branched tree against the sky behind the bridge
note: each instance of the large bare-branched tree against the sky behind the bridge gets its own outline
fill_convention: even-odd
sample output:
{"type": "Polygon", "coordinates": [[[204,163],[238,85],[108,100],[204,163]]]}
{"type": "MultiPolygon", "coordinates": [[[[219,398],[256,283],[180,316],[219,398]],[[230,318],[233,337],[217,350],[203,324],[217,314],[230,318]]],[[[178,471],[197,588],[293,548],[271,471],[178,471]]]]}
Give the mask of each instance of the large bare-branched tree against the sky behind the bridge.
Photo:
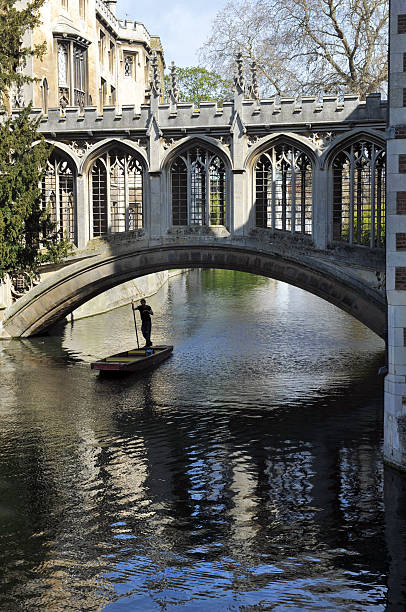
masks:
{"type": "Polygon", "coordinates": [[[230,74],[238,51],[258,66],[263,95],[385,88],[387,0],[237,0],[215,17],[202,60],[230,74]]]}

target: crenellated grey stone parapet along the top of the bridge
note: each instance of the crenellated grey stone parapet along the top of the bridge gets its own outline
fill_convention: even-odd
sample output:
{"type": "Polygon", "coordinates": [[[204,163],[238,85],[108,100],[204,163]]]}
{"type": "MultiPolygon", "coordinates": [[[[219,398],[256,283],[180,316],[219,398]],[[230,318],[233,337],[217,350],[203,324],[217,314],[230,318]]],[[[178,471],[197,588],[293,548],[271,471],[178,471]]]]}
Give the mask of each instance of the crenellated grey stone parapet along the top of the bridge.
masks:
{"type": "MultiPolygon", "coordinates": [[[[18,111],[15,111],[16,113],[18,111]]],[[[250,131],[259,129],[286,129],[287,126],[321,126],[328,129],[332,125],[377,124],[385,126],[387,121],[387,102],[381,100],[380,94],[367,97],[360,101],[356,96],[344,96],[343,100],[337,97],[324,97],[321,101],[316,98],[276,99],[271,100],[244,100],[242,104],[241,121],[250,131]]],[[[126,105],[122,108],[105,106],[103,112],[96,107],[69,107],[61,112],[59,108],[50,108],[48,115],[43,116],[41,109],[33,109],[33,117],[40,118],[40,132],[46,134],[60,134],[61,132],[91,132],[108,133],[109,131],[146,132],[151,121],[151,107],[143,104],[140,110],[135,106],[126,105]]],[[[154,115],[161,130],[169,133],[179,131],[186,134],[193,130],[230,131],[235,119],[236,109],[233,102],[225,103],[219,107],[215,102],[202,102],[196,108],[191,103],[178,103],[176,105],[159,104],[158,112],[154,115]]],[[[5,117],[5,113],[0,113],[5,117]]]]}

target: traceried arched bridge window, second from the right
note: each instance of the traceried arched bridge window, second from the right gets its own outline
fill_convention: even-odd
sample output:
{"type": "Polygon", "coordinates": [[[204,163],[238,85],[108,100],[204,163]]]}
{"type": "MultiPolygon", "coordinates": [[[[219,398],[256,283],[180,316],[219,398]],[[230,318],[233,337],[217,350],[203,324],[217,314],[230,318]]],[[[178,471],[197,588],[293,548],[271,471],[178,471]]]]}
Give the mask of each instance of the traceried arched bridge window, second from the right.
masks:
{"type": "Polygon", "coordinates": [[[312,233],[312,163],[290,144],[269,149],[255,166],[257,227],[312,233]]]}

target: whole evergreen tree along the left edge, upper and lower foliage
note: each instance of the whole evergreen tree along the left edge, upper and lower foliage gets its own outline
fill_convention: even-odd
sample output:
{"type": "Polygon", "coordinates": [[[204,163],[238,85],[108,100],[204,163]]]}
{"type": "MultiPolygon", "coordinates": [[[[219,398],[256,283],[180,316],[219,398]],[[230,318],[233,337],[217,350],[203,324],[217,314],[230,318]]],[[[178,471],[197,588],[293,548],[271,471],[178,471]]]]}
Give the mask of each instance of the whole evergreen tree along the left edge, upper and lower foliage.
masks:
{"type": "MultiPolygon", "coordinates": [[[[22,10],[14,0],[0,0],[0,87],[3,102],[11,87],[32,82],[23,73],[30,56],[40,56],[22,43],[25,32],[39,23],[44,0],[28,2],[22,10]]],[[[41,263],[58,261],[70,244],[60,236],[48,211],[41,206],[39,185],[50,147],[30,119],[31,106],[0,123],[0,279],[5,274],[34,275],[41,263]]]]}

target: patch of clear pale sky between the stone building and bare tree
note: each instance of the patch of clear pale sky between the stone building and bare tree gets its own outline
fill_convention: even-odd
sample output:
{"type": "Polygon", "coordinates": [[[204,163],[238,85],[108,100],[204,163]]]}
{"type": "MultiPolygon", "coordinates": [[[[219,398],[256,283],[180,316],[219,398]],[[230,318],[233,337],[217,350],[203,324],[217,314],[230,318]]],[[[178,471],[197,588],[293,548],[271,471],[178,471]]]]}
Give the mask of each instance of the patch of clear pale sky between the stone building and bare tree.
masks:
{"type": "Polygon", "coordinates": [[[161,37],[166,65],[196,66],[197,50],[210,33],[211,21],[224,2],[205,0],[118,0],[117,17],[141,21],[152,35],[161,37]]]}

